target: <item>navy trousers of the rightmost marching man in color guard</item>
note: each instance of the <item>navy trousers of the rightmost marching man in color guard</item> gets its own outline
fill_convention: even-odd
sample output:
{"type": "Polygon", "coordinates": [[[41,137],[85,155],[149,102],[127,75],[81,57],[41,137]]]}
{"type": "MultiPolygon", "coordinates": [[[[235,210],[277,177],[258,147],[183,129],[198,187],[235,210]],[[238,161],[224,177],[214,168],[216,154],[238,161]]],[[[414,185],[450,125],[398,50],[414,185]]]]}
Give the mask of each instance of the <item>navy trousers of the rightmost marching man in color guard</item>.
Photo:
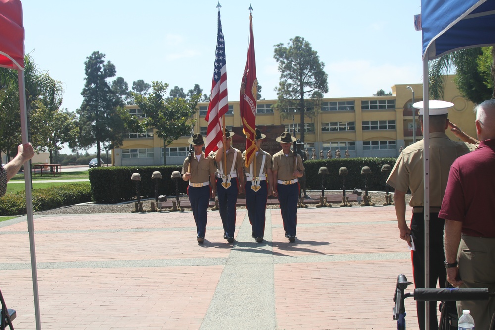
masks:
{"type": "Polygon", "coordinates": [[[299,183],[292,185],[277,184],[280,213],[284,222],[284,230],[291,236],[296,236],[297,199],[299,198],[299,183]]]}

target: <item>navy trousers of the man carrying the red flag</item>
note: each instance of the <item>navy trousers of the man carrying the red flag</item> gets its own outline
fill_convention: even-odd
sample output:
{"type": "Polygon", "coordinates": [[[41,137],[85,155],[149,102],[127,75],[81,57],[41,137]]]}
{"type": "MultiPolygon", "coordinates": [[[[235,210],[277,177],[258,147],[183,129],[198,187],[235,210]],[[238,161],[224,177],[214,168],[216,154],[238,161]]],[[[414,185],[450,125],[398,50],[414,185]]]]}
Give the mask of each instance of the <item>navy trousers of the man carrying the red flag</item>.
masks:
{"type": "Polygon", "coordinates": [[[261,187],[258,191],[251,189],[251,180],[247,180],[244,185],[247,215],[249,216],[249,222],[251,223],[255,238],[263,237],[265,233],[265,211],[266,200],[268,198],[268,184],[266,180],[258,181],[257,184],[261,187]]]}

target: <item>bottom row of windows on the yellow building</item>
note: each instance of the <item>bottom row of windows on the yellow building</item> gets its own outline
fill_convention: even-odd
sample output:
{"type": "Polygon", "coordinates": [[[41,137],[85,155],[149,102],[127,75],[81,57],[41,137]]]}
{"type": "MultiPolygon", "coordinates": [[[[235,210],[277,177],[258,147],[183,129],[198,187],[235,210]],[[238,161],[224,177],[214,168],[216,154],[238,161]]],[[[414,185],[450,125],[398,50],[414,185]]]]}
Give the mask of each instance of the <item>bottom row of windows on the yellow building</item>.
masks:
{"type": "MultiPolygon", "coordinates": [[[[306,143],[307,149],[314,148],[314,143],[306,143]]],[[[391,150],[396,149],[396,141],[363,141],[363,150],[391,150]]],[[[356,142],[326,142],[323,143],[323,151],[328,150],[356,150],[356,142]]],[[[186,157],[188,155],[189,148],[185,146],[166,148],[167,157],[186,157]]],[[[161,148],[161,156],[163,157],[163,148],[161,148]]],[[[153,148],[142,149],[122,149],[122,158],[154,158],[153,148]]]]}

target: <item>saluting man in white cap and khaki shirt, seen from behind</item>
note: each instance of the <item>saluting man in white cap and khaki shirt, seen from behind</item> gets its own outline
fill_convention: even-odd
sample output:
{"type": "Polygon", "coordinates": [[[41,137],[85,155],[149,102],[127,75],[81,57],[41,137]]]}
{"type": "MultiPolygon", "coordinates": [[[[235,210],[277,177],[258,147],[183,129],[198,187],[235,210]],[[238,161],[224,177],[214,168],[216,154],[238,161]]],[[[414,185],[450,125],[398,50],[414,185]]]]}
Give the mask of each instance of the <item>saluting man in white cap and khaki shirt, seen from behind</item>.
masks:
{"type": "MultiPolygon", "coordinates": [[[[419,121],[423,131],[423,102],[414,103],[419,108],[419,121]]],[[[437,281],[440,287],[445,286],[446,269],[443,248],[444,221],[438,218],[440,205],[445,193],[448,172],[453,161],[476,148],[475,145],[455,142],[445,134],[449,127],[448,108],[453,106],[450,102],[429,101],[429,137],[430,137],[430,278],[431,288],[435,288],[437,281]]],[[[450,125],[452,126],[452,125],[450,125]]],[[[423,132],[424,135],[424,132],[423,132]]],[[[397,158],[387,184],[394,187],[395,210],[400,231],[400,238],[411,246],[414,242],[415,250],[412,251],[413,276],[416,288],[424,287],[425,260],[424,260],[424,214],[423,214],[423,140],[411,144],[405,148],[397,158]],[[411,227],[405,220],[405,194],[411,190],[409,205],[413,208],[411,227]]],[[[425,325],[424,302],[417,302],[418,322],[420,329],[425,325]]],[[[437,311],[435,302],[430,302],[430,329],[438,329],[437,311]]]]}

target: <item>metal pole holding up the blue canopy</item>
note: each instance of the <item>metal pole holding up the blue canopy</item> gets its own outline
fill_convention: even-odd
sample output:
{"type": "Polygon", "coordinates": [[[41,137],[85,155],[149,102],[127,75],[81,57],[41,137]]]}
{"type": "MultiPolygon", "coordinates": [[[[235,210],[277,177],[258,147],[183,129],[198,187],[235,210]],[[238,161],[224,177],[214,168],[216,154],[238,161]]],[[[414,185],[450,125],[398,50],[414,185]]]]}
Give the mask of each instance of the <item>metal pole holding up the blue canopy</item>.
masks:
{"type": "MultiPolygon", "coordinates": [[[[428,51],[423,59],[423,216],[425,223],[425,288],[430,287],[430,108],[428,80],[428,51]]],[[[425,301],[425,330],[430,330],[430,301],[425,301]]],[[[437,316],[435,315],[435,318],[437,316]]]]}

